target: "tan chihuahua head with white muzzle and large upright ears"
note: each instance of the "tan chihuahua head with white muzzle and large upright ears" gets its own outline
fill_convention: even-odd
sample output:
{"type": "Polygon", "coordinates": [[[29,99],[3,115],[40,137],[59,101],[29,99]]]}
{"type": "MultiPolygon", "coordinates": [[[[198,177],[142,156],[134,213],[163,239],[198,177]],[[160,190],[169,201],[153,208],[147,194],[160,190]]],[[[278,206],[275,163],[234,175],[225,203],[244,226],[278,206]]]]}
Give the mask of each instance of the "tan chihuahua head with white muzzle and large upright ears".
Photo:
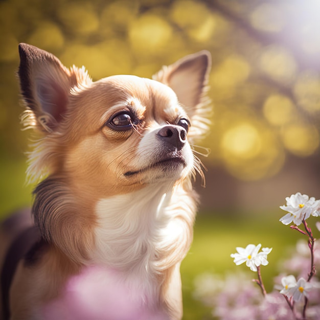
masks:
{"type": "Polygon", "coordinates": [[[41,132],[29,174],[59,175],[105,197],[187,177],[190,147],[208,129],[210,54],[163,67],[153,79],[129,75],[96,82],[52,54],[19,45],[25,126],[41,132]]]}

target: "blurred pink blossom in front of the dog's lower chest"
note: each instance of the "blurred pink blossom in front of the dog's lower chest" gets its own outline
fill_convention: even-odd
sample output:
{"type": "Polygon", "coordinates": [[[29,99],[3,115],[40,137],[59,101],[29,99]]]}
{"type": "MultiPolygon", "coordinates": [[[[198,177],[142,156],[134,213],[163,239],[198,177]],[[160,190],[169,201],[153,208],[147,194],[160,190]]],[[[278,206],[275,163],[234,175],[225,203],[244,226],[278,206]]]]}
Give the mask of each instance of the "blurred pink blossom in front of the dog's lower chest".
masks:
{"type": "Polygon", "coordinates": [[[124,284],[121,273],[88,267],[72,277],[59,297],[43,309],[45,320],[164,320],[138,287],[124,284]]]}

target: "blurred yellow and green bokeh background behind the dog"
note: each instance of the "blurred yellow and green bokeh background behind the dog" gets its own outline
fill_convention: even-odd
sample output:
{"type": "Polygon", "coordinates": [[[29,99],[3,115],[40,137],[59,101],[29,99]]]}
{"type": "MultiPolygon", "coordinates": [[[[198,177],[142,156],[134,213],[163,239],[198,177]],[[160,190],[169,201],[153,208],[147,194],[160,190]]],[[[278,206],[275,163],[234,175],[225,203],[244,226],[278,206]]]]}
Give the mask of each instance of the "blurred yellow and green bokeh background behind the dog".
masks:
{"type": "Polygon", "coordinates": [[[271,279],[296,239],[278,222],[279,205],[296,192],[320,198],[319,15],[317,0],[1,0],[0,215],[30,205],[34,187],[25,184],[30,133],[19,123],[19,42],[84,65],[94,80],[151,77],[207,49],[214,112],[196,150],[208,172],[206,187],[197,183],[201,204],[182,281],[184,319],[211,319],[193,299],[194,278],[232,271],[236,246],[262,242],[274,247],[271,279]]]}

